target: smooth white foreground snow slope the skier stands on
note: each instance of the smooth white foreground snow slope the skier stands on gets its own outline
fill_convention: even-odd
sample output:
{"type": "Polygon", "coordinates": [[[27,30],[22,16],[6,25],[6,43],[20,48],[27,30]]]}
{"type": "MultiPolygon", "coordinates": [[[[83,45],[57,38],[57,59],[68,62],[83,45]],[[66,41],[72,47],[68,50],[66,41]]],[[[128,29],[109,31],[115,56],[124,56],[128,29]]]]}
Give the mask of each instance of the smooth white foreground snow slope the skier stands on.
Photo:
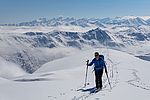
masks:
{"type": "Polygon", "coordinates": [[[0,83],[0,100],[149,100],[150,62],[124,52],[94,49],[49,62],[32,75],[17,77],[0,83]],[[95,51],[105,55],[109,77],[103,76],[103,90],[90,94],[94,87],[94,73],[89,68],[86,88],[82,88],[87,59],[95,51]],[[6,88],[7,87],[7,88],[6,88]],[[79,91],[78,91],[79,90],[79,91]]]}

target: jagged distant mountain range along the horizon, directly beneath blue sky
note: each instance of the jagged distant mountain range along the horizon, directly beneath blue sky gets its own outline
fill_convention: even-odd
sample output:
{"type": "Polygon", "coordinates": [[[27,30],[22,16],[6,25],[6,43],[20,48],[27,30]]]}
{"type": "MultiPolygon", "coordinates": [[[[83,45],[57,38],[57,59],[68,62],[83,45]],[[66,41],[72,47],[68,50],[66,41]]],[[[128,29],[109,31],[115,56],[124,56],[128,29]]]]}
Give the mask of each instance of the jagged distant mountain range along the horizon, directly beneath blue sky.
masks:
{"type": "Polygon", "coordinates": [[[115,17],[115,18],[39,18],[38,20],[33,20],[31,22],[22,22],[18,24],[1,24],[1,26],[59,26],[59,25],[75,25],[88,27],[90,25],[97,25],[105,27],[105,25],[130,25],[130,26],[140,26],[140,25],[150,25],[150,16],[125,16],[125,17],[115,17]]]}

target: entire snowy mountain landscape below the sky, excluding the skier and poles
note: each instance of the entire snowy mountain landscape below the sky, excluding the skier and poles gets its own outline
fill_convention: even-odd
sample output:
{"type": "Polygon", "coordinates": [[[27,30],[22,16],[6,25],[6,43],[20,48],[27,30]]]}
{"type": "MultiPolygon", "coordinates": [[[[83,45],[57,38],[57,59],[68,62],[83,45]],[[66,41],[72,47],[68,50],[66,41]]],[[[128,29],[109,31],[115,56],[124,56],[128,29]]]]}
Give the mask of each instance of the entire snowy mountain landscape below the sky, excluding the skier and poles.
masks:
{"type": "Polygon", "coordinates": [[[149,45],[149,16],[0,25],[0,100],[149,100],[149,45]],[[104,74],[103,90],[90,94],[93,67],[82,86],[95,51],[105,56],[113,88],[104,74]]]}

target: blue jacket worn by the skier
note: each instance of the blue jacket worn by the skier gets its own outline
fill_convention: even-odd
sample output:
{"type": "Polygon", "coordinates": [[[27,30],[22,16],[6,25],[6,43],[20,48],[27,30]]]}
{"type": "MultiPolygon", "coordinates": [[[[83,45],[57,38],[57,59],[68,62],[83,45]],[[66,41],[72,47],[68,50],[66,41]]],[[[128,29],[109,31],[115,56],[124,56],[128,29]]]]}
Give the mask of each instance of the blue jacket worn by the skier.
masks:
{"type": "Polygon", "coordinates": [[[100,70],[100,69],[104,69],[106,68],[106,64],[105,61],[102,57],[100,57],[98,60],[96,60],[96,58],[94,58],[89,64],[88,66],[92,66],[94,64],[94,69],[95,70],[100,70]]]}

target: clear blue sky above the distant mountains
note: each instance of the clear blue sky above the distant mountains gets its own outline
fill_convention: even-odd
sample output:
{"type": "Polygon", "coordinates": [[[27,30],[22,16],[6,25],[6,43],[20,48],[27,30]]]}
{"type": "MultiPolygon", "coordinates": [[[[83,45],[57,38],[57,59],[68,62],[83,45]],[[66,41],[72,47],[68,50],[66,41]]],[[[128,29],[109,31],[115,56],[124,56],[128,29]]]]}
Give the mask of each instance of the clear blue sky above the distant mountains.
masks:
{"type": "Polygon", "coordinates": [[[0,23],[41,17],[148,16],[150,0],[0,0],[0,23]]]}

